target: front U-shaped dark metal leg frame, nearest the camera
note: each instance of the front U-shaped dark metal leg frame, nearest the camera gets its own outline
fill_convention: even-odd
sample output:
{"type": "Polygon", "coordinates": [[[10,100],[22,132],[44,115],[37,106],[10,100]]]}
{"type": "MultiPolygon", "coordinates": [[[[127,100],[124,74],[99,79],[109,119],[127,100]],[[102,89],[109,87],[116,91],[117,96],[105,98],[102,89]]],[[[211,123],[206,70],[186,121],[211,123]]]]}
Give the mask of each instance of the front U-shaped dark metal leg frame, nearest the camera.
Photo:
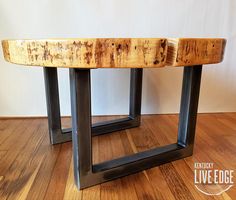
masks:
{"type": "MultiPolygon", "coordinates": [[[[70,69],[74,174],[78,188],[86,188],[192,155],[201,70],[202,66],[184,68],[177,143],[93,164],[90,70],[70,69]]],[[[140,75],[136,69],[133,72],[140,75]]],[[[140,84],[136,75],[131,78],[134,85],[140,84]]],[[[130,113],[134,118],[140,117],[140,93],[141,90],[131,92],[130,99],[134,102],[134,107],[130,108],[130,113]]]]}

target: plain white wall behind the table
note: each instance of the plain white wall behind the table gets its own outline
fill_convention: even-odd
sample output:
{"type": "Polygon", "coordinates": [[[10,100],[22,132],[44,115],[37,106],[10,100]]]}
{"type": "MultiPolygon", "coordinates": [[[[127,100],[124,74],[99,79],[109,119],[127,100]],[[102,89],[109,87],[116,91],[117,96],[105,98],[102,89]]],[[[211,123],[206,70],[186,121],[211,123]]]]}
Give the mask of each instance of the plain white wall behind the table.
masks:
{"type": "MultiPolygon", "coordinates": [[[[235,0],[0,0],[0,40],[66,37],[225,37],[225,60],[205,66],[200,112],[236,111],[235,0]]],[[[70,114],[68,71],[61,110],[70,114]]],[[[144,71],[143,113],[176,113],[182,68],[144,71]]],[[[128,111],[128,70],[93,70],[93,114],[128,111]]],[[[0,51],[0,116],[46,115],[42,68],[6,63],[0,51]]]]}

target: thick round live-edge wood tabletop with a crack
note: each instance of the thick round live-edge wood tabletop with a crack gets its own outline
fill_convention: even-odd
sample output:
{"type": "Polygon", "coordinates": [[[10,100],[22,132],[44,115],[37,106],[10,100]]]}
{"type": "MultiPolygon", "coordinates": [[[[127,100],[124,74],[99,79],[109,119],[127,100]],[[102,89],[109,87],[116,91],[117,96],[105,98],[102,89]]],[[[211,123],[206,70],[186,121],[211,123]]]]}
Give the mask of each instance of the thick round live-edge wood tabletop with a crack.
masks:
{"type": "Polygon", "coordinates": [[[221,38],[77,38],[3,40],[7,61],[67,68],[191,66],[223,60],[221,38]]]}

